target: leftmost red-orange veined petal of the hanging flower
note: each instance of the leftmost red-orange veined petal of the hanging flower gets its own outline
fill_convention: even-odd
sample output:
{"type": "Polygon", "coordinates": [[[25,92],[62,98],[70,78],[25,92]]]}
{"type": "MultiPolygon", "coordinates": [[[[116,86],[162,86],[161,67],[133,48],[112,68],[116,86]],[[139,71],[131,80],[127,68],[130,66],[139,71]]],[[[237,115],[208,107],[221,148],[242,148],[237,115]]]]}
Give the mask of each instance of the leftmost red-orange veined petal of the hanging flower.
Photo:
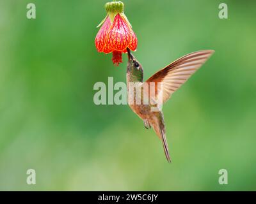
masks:
{"type": "Polygon", "coordinates": [[[111,22],[109,17],[106,18],[104,24],[102,27],[100,27],[100,30],[95,38],[95,46],[98,50],[98,52],[105,52],[109,53],[111,50],[106,49],[106,34],[109,31],[109,27],[111,26],[111,22]]]}

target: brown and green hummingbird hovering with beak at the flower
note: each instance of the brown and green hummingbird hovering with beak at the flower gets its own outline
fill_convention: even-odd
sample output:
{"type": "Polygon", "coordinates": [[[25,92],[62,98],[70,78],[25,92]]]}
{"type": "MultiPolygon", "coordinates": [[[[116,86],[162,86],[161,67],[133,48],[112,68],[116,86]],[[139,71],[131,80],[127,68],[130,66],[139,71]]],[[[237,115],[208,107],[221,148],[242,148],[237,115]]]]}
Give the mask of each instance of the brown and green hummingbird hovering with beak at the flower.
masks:
{"type": "MultiPolygon", "coordinates": [[[[161,110],[152,111],[152,108],[156,106],[157,94],[160,95],[163,103],[168,101],[179,87],[184,84],[202,64],[214,53],[214,50],[202,50],[193,52],[184,57],[180,57],[176,61],[172,62],[163,69],[160,69],[152,77],[148,78],[143,82],[143,68],[138,60],[131,54],[131,50],[127,48],[128,63],[127,63],[127,93],[128,93],[128,104],[132,111],[136,113],[144,122],[145,128],[153,128],[157,136],[161,139],[164,148],[164,154],[167,161],[170,163],[170,154],[168,150],[168,143],[165,135],[165,124],[164,115],[161,110]],[[146,87],[154,83],[154,94],[151,89],[148,91],[148,103],[136,103],[141,101],[141,93],[134,94],[134,88],[131,90],[129,84],[137,84],[136,87],[146,87]],[[161,85],[158,85],[161,84],[161,85]]],[[[145,88],[144,88],[145,89],[145,88]]],[[[145,95],[145,92],[143,91],[145,95]]]]}

